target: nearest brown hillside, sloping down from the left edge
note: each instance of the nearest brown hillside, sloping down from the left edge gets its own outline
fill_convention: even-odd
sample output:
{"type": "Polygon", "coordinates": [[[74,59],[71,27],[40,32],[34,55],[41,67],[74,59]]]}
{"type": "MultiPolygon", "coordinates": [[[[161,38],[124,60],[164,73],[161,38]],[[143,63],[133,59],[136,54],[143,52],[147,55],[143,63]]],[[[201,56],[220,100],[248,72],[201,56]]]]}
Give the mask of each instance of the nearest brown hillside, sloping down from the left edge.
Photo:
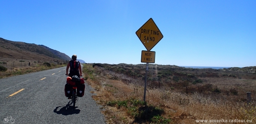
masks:
{"type": "Polygon", "coordinates": [[[23,60],[62,60],[47,49],[36,44],[10,41],[0,38],[0,56],[23,60]]]}

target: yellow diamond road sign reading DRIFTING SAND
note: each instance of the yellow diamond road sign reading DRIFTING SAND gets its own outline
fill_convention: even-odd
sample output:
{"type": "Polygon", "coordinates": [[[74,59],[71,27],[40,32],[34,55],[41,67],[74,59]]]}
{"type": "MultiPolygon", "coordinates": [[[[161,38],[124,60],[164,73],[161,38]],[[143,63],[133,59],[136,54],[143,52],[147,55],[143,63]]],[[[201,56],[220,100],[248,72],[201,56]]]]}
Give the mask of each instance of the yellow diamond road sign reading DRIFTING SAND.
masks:
{"type": "Polygon", "coordinates": [[[164,37],[152,18],[143,24],[143,26],[137,30],[136,34],[148,51],[164,37]]]}

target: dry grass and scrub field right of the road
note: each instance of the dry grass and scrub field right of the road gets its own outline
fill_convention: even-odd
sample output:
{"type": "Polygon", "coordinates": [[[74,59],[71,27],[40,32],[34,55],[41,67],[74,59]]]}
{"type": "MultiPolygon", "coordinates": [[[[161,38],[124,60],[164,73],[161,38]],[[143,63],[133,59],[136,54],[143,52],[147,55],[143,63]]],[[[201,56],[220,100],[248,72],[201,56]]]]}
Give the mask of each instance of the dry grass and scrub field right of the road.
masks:
{"type": "Polygon", "coordinates": [[[145,64],[84,64],[108,124],[196,123],[196,119],[256,122],[256,67],[193,69],[149,64],[146,102],[145,64]],[[246,103],[246,92],[252,100],[246,103]]]}

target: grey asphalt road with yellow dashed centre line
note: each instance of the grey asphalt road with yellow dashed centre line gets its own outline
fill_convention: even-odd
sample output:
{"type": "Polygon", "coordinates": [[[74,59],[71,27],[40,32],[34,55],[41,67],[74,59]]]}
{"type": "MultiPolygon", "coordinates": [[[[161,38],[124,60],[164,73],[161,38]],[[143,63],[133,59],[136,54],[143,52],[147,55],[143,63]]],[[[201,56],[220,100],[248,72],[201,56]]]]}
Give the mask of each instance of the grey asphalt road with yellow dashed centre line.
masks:
{"type": "Polygon", "coordinates": [[[65,68],[0,79],[0,123],[11,116],[15,124],[105,124],[100,106],[91,97],[93,89],[86,83],[77,108],[69,105],[64,93],[65,68]]]}

